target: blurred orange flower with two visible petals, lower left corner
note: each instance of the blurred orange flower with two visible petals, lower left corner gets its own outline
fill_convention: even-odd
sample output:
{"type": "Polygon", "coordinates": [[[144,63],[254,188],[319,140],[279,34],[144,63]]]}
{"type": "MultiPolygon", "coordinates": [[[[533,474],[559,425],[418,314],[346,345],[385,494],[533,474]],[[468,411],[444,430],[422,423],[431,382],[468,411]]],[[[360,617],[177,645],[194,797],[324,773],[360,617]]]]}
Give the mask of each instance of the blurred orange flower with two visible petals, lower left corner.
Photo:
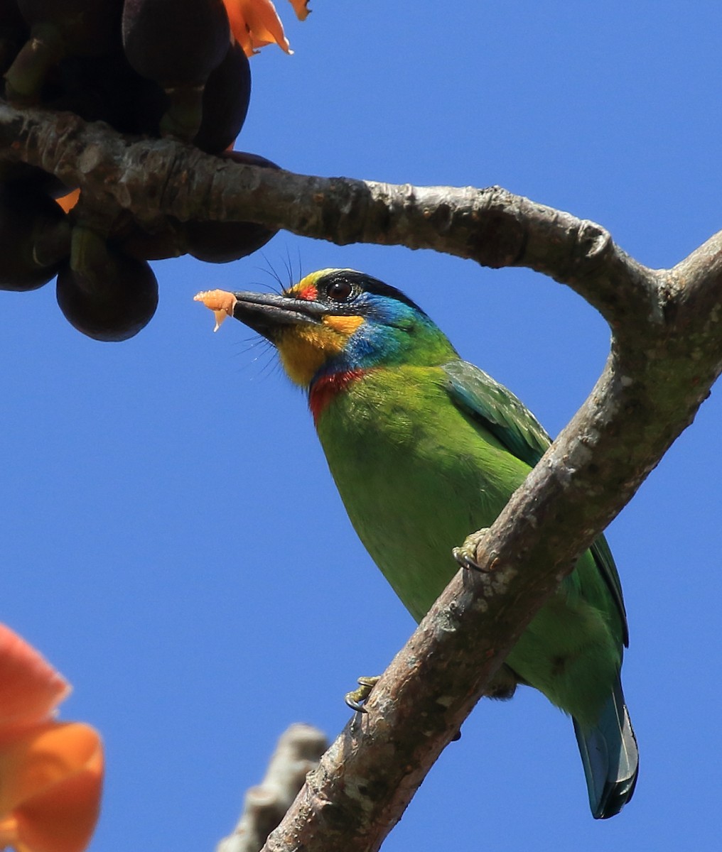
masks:
{"type": "Polygon", "coordinates": [[[94,728],[55,722],[66,680],[0,625],[0,849],[82,852],[100,808],[103,758],[94,728]]]}

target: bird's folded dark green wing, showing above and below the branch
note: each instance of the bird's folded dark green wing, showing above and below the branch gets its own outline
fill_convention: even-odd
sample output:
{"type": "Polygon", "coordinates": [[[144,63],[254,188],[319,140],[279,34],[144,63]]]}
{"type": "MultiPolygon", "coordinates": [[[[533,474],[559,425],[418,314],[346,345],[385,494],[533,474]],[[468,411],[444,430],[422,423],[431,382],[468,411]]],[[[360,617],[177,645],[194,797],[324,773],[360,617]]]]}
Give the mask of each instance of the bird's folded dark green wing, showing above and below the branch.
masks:
{"type": "MultiPolygon", "coordinates": [[[[468,361],[449,361],[442,366],[442,370],[448,377],[448,394],[454,405],[481,423],[509,452],[529,464],[529,467],[534,467],[552,439],[522,400],[468,361]]],[[[627,645],[627,612],[609,544],[600,535],[590,550],[619,609],[624,644],[627,645]]]]}

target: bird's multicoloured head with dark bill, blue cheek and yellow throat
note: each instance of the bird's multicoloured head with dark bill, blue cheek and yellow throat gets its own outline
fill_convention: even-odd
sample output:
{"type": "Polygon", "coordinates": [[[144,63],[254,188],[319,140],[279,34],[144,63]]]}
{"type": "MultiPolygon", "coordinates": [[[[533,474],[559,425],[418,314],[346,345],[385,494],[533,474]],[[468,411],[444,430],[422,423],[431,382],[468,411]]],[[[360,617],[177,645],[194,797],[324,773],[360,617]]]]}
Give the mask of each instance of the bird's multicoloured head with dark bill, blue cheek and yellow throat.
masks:
{"type": "Polygon", "coordinates": [[[233,296],[234,318],[274,344],[286,373],[303,388],[335,373],[436,366],[456,357],[411,299],[353,269],[321,269],[280,294],[233,296]]]}

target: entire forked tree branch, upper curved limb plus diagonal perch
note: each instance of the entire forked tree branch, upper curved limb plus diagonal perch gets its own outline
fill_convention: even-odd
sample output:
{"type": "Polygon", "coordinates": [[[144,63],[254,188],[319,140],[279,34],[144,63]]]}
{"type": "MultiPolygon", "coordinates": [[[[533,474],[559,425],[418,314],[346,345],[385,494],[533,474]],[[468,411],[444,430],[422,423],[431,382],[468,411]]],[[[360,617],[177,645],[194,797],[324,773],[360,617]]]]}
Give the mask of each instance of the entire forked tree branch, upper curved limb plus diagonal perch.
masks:
{"type": "MultiPolygon", "coordinates": [[[[627,504],[722,370],[722,233],[672,270],[604,228],[488,189],[396,187],[224,163],[72,116],[0,108],[0,146],[83,189],[90,210],[284,227],[339,245],[430,248],[569,285],[613,331],[604,373],[374,688],[266,849],[378,849],[534,613],[627,504]]],[[[459,542],[459,544],[461,544],[459,542]]]]}

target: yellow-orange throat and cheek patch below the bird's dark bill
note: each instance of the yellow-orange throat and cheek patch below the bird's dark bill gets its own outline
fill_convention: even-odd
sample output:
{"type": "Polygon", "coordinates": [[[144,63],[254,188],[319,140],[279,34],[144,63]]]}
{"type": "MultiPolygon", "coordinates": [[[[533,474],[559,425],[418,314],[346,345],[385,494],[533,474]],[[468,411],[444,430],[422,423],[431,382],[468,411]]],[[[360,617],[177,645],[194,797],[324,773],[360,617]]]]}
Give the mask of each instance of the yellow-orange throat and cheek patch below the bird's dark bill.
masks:
{"type": "Polygon", "coordinates": [[[362,317],[326,316],[321,325],[288,325],[276,341],[280,362],[292,382],[307,388],[334,355],[342,352],[362,317]]]}

